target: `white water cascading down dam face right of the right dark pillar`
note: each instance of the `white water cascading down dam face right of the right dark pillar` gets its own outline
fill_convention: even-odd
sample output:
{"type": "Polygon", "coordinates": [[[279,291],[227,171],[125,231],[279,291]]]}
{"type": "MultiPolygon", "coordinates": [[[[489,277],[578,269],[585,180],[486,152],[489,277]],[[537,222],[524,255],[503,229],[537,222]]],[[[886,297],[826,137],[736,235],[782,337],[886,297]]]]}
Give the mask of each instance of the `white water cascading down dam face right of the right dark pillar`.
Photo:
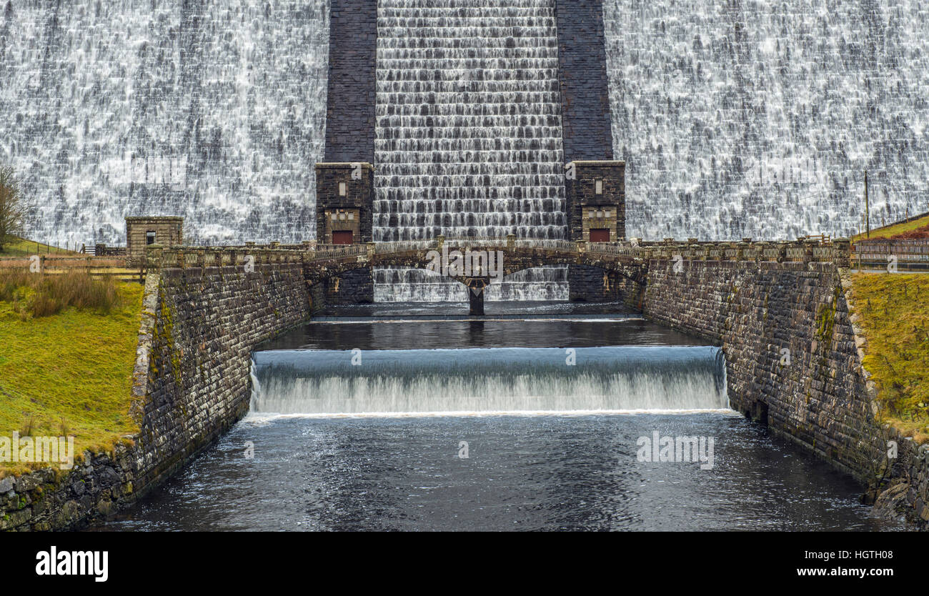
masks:
{"type": "Polygon", "coordinates": [[[922,0],[604,0],[629,236],[793,240],[929,209],[922,0]]]}

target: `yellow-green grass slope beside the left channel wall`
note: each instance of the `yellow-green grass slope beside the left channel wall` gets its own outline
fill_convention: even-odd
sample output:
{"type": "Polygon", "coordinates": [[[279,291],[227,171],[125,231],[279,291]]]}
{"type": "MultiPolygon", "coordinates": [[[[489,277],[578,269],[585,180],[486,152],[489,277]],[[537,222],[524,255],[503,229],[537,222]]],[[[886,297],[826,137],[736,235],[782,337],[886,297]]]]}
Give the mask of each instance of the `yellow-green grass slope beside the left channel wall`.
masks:
{"type": "MultiPolygon", "coordinates": [[[[111,450],[137,432],[129,418],[143,288],[118,283],[109,313],[66,306],[22,317],[0,302],[0,435],[74,435],[77,459],[87,448],[111,450]]],[[[46,464],[0,462],[0,477],[46,464]]]]}

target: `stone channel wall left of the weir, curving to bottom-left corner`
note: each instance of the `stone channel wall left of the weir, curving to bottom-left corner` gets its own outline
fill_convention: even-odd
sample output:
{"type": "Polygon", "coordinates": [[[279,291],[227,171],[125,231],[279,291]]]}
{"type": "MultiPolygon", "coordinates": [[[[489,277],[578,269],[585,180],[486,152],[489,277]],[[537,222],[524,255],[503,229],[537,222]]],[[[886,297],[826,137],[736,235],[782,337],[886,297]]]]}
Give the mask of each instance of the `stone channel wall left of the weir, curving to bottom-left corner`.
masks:
{"type": "Polygon", "coordinates": [[[70,529],[105,517],[177,472],[247,412],[250,354],[306,320],[300,253],[194,251],[150,267],[130,415],[137,434],[69,472],[0,479],[0,529],[70,529]],[[249,265],[246,267],[246,265],[249,265]]]}

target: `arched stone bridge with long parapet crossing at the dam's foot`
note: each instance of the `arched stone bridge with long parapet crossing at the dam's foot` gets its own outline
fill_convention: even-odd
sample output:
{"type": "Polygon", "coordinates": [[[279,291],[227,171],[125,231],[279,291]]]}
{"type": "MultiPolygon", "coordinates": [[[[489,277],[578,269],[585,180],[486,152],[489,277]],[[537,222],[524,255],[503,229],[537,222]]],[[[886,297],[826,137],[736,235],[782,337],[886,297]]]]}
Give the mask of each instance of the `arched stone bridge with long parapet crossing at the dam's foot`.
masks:
{"type": "Polygon", "coordinates": [[[402,242],[369,242],[348,246],[315,246],[312,242],[281,246],[272,242],[265,246],[247,243],[237,247],[170,247],[152,245],[146,253],[150,268],[208,268],[216,266],[249,267],[273,264],[301,264],[304,278],[310,288],[328,279],[337,278],[348,271],[370,267],[410,267],[430,269],[455,263],[460,253],[486,252],[494,254],[492,267],[478,259],[475,265],[485,263],[487,271],[465,270],[448,272],[451,279],[467,286],[471,292],[471,312],[483,312],[483,290],[495,279],[503,279],[517,271],[539,266],[576,265],[596,267],[604,271],[610,285],[629,281],[644,287],[648,267],[655,263],[673,266],[676,261],[764,261],[775,262],[834,262],[848,266],[850,247],[848,240],[800,239],[795,242],[617,242],[588,243],[570,240],[517,240],[515,236],[502,239],[445,239],[412,240],[402,242]],[[502,256],[502,266],[496,257],[502,256]],[[671,265],[669,265],[671,264],[671,265]],[[497,269],[500,267],[502,271],[497,269]],[[493,275],[495,274],[495,275],[493,275]]]}

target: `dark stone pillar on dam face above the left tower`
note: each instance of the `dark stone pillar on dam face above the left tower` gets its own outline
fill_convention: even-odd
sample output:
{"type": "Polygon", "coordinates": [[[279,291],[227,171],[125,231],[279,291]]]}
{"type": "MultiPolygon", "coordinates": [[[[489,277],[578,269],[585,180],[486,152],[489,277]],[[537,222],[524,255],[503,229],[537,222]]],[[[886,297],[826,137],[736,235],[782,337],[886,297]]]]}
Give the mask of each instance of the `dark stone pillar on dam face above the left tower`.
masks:
{"type": "Polygon", "coordinates": [[[332,0],[326,162],[374,162],[377,1],[332,0]]]}

